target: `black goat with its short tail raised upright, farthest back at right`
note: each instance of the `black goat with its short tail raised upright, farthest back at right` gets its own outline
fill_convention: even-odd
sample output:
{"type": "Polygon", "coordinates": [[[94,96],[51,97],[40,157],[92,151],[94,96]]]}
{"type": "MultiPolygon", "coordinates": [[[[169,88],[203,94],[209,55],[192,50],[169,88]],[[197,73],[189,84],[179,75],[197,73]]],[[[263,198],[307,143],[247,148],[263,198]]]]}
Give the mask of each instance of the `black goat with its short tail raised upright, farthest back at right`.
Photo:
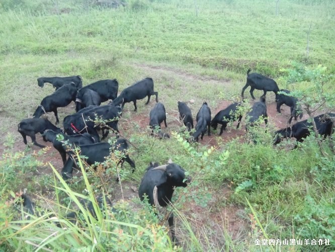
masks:
{"type": "Polygon", "coordinates": [[[263,97],[265,97],[265,95],[267,94],[268,91],[273,91],[276,94],[277,97],[277,92],[279,91],[278,85],[277,83],[272,80],[271,78],[265,77],[263,75],[260,75],[258,73],[252,73],[249,75],[249,72],[251,70],[249,69],[246,74],[246,84],[245,86],[242,88],[242,94],[241,96],[243,97],[244,94],[244,90],[250,86],[250,95],[253,97],[253,99],[255,100],[255,96],[254,96],[254,90],[258,89],[258,90],[263,90],[264,94],[261,96],[261,99],[263,97]]]}

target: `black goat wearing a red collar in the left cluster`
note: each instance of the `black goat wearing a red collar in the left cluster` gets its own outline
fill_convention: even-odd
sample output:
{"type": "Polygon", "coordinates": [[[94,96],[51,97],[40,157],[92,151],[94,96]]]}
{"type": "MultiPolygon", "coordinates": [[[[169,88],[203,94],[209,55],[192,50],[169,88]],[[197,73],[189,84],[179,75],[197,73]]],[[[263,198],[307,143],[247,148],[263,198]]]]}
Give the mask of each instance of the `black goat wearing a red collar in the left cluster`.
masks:
{"type": "Polygon", "coordinates": [[[109,128],[119,133],[118,130],[118,118],[121,114],[120,106],[104,105],[104,106],[89,106],[83,108],[78,112],[67,115],[64,117],[63,126],[64,132],[68,135],[74,135],[78,133],[87,132],[94,137],[96,142],[100,142],[99,134],[97,132],[97,126],[95,125],[95,119],[102,118],[108,120],[106,122],[107,127],[99,126],[98,129],[103,131],[102,140],[107,138],[109,134],[109,128]],[[106,132],[105,132],[106,130],[106,132]]]}

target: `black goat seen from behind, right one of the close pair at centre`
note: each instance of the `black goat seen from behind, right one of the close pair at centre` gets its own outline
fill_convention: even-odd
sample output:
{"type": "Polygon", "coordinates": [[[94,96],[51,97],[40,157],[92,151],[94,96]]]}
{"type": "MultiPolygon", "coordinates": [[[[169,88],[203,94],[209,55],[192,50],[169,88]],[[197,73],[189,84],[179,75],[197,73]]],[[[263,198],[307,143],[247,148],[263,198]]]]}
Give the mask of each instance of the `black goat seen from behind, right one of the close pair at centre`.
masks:
{"type": "Polygon", "coordinates": [[[195,139],[197,142],[199,140],[199,136],[201,135],[201,140],[203,139],[206,128],[208,127],[208,136],[211,135],[211,109],[208,107],[207,102],[204,102],[197,113],[197,125],[196,132],[193,133],[193,140],[195,139]]]}

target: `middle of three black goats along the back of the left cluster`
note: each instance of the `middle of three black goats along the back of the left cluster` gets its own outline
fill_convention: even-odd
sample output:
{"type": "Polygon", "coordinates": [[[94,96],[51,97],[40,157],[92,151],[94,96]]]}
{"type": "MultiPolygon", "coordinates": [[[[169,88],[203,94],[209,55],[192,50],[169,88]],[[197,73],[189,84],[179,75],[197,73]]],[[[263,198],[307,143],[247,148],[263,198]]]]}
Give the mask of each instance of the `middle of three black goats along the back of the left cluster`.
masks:
{"type": "MultiPolygon", "coordinates": [[[[78,94],[75,100],[75,111],[78,112],[83,108],[81,104],[85,100],[83,98],[87,89],[91,89],[98,93],[101,102],[107,101],[108,99],[114,100],[118,95],[119,83],[116,79],[113,80],[101,80],[90,85],[87,85],[78,90],[78,94]]],[[[97,105],[97,104],[96,104],[97,105]]],[[[100,105],[100,104],[99,104],[100,105]]]]}

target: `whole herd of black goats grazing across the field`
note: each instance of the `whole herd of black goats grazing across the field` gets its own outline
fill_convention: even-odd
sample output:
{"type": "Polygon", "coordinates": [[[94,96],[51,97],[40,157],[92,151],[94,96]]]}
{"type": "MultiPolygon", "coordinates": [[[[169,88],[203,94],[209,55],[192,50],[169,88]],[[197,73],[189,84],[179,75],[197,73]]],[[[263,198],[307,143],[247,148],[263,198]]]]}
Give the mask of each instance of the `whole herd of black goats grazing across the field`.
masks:
{"type": "MultiPolygon", "coordinates": [[[[260,101],[255,102],[252,109],[247,113],[246,130],[252,127],[254,123],[263,116],[267,124],[267,106],[265,103],[265,96],[268,91],[273,91],[276,95],[277,111],[280,112],[280,107],[283,104],[290,106],[291,113],[288,119],[291,123],[294,117],[297,120],[298,116],[302,117],[302,111],[297,103],[297,99],[289,96],[288,90],[279,90],[277,83],[263,75],[253,73],[249,74],[247,71],[247,81],[242,88],[241,96],[245,89],[250,86],[250,95],[255,99],[253,91],[255,89],[263,90],[264,94],[261,96],[260,101]],[[280,92],[281,91],[281,92],[280,92]],[[280,93],[279,93],[280,92],[280,93]]],[[[18,131],[22,135],[24,143],[27,144],[26,137],[32,139],[34,145],[44,147],[36,142],[35,135],[42,134],[44,141],[53,143],[54,148],[60,153],[63,161],[62,176],[64,179],[72,177],[72,169],[76,165],[75,155],[71,151],[71,147],[79,146],[81,155],[86,156],[86,162],[90,165],[96,162],[103,162],[105,157],[110,156],[110,152],[120,150],[125,153],[121,160],[121,165],[124,161],[128,162],[135,170],[135,163],[127,155],[128,143],[125,139],[118,139],[115,144],[100,142],[98,131],[102,131],[102,139],[105,139],[109,130],[112,129],[116,134],[118,130],[118,119],[122,114],[123,107],[127,102],[133,102],[135,111],[137,110],[136,100],[148,97],[148,104],[151,95],[155,95],[156,104],[150,111],[149,125],[153,131],[155,130],[160,138],[170,138],[168,134],[163,134],[160,130],[160,124],[164,121],[166,125],[166,113],[164,105],[158,102],[158,92],[154,91],[153,81],[151,78],[141,80],[132,86],[125,88],[119,96],[119,84],[116,79],[114,80],[101,80],[85,87],[82,87],[82,79],[80,76],[71,77],[51,77],[51,78],[38,78],[38,85],[43,87],[44,83],[51,83],[55,87],[55,92],[42,99],[41,104],[38,105],[33,118],[23,119],[18,125],[18,131]],[[102,102],[112,101],[108,105],[100,106],[102,102]],[[76,104],[76,113],[67,115],[63,120],[63,130],[53,125],[48,119],[40,118],[42,114],[47,112],[54,112],[56,123],[59,122],[57,115],[58,107],[65,107],[71,101],[76,104]],[[97,120],[104,120],[104,124],[97,125],[97,120]],[[66,133],[66,134],[65,134],[66,133]],[[61,135],[61,139],[57,137],[61,135]],[[67,145],[64,144],[67,143],[67,145]],[[70,148],[69,148],[70,147],[70,148]],[[66,154],[69,157],[66,159],[66,154]]],[[[219,111],[213,119],[211,119],[211,110],[207,103],[204,102],[201,106],[196,117],[195,132],[192,134],[190,141],[198,141],[200,136],[203,139],[204,134],[208,131],[210,135],[210,127],[214,130],[217,129],[218,124],[221,124],[219,135],[225,130],[229,121],[238,119],[237,128],[242,118],[242,114],[238,108],[242,103],[233,103],[227,108],[219,111]],[[207,129],[208,128],[208,129],[207,129]]],[[[187,130],[190,132],[193,129],[193,118],[191,109],[184,102],[178,102],[178,109],[181,120],[183,120],[187,130]]],[[[335,114],[321,114],[314,117],[317,130],[320,135],[326,137],[332,133],[333,120],[335,114]]],[[[281,142],[283,138],[296,138],[301,142],[309,135],[310,122],[307,120],[300,121],[292,127],[281,129],[275,134],[275,144],[281,142]]],[[[171,202],[174,188],[176,186],[187,186],[190,178],[185,177],[185,171],[178,164],[169,160],[168,164],[159,165],[158,163],[150,163],[147,168],[141,184],[139,186],[139,196],[144,200],[144,195],[148,196],[151,205],[166,206],[171,202]]],[[[32,207],[32,203],[26,195],[24,198],[24,205],[28,209],[32,207]],[[30,206],[30,207],[29,207],[30,206]]],[[[92,210],[92,209],[91,209],[92,210]]],[[[32,210],[30,211],[32,212],[32,210]]],[[[73,214],[72,214],[73,215],[73,214]]],[[[70,218],[71,215],[68,216],[70,218]]],[[[169,226],[172,232],[172,239],[176,241],[173,229],[173,215],[170,215],[169,226]]]]}

